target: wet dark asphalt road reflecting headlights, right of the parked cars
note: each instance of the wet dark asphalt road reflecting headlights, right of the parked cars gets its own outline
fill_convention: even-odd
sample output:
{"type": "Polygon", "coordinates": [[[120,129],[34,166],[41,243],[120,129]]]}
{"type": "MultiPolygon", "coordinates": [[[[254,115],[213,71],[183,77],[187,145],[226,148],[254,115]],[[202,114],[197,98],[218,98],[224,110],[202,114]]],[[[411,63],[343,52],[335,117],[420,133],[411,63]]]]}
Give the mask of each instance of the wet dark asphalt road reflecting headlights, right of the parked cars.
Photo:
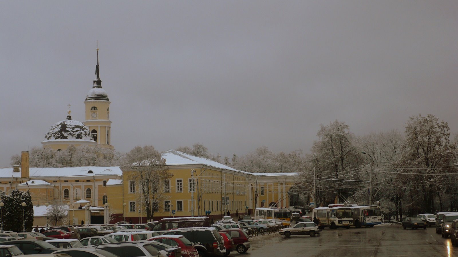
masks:
{"type": "Polygon", "coordinates": [[[266,236],[251,243],[245,254],[231,252],[230,256],[289,257],[289,256],[457,256],[458,246],[450,238],[436,234],[434,227],[403,230],[400,225],[373,228],[325,229],[320,236],[266,236]]]}

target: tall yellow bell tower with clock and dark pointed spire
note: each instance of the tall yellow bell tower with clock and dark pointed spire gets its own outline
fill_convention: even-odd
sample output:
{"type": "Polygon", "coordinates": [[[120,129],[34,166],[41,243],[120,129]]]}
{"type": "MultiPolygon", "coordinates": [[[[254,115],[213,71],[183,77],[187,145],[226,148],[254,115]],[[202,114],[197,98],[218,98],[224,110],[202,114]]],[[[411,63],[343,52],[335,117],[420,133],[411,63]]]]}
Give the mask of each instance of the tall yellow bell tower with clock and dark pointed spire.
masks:
{"type": "Polygon", "coordinates": [[[96,79],[93,80],[92,89],[89,90],[84,104],[86,106],[85,121],[83,122],[91,131],[92,137],[97,145],[104,148],[114,149],[111,143],[111,121],[109,118],[110,101],[107,92],[102,88],[102,80],[98,70],[98,48],[97,65],[95,65],[96,79]]]}

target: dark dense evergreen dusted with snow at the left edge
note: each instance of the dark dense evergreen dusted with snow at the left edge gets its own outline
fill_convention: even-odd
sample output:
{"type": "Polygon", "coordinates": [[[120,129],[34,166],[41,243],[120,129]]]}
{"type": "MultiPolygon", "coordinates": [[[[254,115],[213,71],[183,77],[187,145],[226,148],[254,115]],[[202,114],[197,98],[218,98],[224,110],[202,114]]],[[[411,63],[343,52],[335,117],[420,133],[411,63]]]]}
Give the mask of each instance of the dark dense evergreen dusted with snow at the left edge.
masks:
{"type": "Polygon", "coordinates": [[[30,192],[14,189],[10,194],[1,193],[3,206],[3,229],[6,231],[23,230],[23,221],[25,220],[25,230],[32,231],[33,227],[33,203],[30,192]],[[26,203],[23,207],[22,203],[26,203]],[[25,211],[25,212],[23,212],[25,211]],[[23,219],[22,217],[25,217],[23,219]]]}

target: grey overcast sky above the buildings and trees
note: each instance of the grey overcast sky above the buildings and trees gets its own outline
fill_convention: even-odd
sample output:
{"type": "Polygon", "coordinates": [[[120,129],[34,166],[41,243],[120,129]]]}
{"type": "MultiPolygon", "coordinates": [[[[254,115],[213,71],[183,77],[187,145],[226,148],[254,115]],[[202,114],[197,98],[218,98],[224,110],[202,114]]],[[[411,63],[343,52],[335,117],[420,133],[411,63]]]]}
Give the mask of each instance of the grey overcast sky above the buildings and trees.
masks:
{"type": "Polygon", "coordinates": [[[310,150],[435,114],[458,132],[458,1],[1,1],[0,166],[84,119],[99,43],[112,144],[310,150]]]}

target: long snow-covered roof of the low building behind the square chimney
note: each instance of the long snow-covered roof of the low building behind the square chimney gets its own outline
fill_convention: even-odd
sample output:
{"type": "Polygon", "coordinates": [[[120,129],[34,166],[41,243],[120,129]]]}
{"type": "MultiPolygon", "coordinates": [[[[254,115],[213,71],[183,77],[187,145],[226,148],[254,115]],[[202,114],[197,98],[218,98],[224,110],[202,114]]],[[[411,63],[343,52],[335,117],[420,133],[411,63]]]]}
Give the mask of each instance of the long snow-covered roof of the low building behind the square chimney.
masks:
{"type": "MultiPolygon", "coordinates": [[[[29,168],[29,176],[33,177],[79,177],[79,176],[101,176],[118,175],[122,176],[119,166],[112,167],[60,167],[60,168],[29,168]]],[[[14,172],[13,168],[0,168],[0,177],[21,177],[21,172],[14,172]]],[[[30,183],[29,183],[30,184],[30,183]]]]}

